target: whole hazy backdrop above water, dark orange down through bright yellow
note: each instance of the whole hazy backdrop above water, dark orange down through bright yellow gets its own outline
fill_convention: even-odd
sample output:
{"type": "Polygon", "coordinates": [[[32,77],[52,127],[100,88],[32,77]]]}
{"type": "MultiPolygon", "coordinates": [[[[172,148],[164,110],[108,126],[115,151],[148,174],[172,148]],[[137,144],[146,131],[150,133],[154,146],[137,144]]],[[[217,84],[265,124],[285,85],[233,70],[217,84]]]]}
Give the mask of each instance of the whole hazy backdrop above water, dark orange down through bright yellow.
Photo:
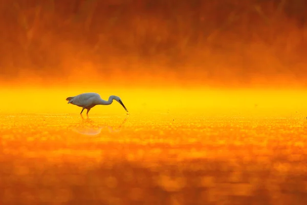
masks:
{"type": "MultiPolygon", "coordinates": [[[[302,0],[4,0],[0,113],[79,114],[65,98],[97,92],[120,96],[131,115],[305,118],[306,8],[302,0]]],[[[125,115],[119,104],[97,113],[125,115]]]]}

